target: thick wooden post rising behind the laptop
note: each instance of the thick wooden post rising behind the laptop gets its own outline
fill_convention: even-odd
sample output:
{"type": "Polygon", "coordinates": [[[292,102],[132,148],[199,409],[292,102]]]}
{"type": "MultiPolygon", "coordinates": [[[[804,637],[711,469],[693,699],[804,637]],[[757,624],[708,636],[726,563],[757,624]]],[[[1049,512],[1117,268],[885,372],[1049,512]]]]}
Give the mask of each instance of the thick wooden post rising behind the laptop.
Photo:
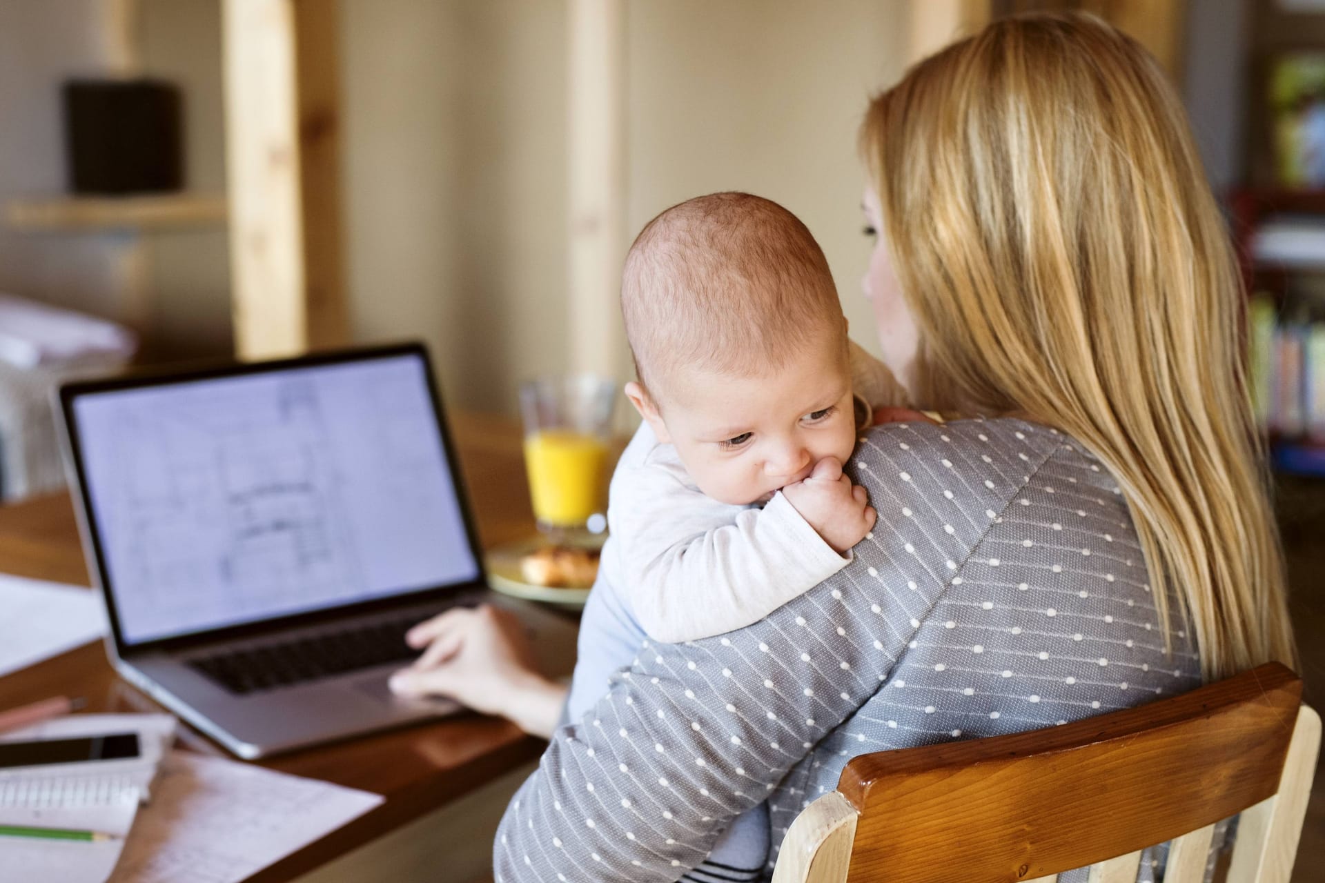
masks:
{"type": "Polygon", "coordinates": [[[232,311],[241,359],[348,339],[335,0],[224,0],[232,311]]]}

